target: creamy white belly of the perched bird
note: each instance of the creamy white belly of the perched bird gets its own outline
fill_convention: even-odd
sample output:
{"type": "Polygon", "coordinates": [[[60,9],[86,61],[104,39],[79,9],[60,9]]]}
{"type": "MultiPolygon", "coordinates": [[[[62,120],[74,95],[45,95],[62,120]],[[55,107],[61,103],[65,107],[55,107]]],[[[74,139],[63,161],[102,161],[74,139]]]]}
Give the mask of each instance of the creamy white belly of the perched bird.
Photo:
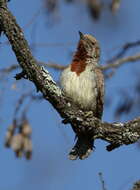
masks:
{"type": "Polygon", "coordinates": [[[95,73],[91,67],[82,72],[79,76],[71,72],[70,67],[61,74],[61,86],[68,97],[77,103],[81,109],[96,109],[97,88],[95,73]]]}

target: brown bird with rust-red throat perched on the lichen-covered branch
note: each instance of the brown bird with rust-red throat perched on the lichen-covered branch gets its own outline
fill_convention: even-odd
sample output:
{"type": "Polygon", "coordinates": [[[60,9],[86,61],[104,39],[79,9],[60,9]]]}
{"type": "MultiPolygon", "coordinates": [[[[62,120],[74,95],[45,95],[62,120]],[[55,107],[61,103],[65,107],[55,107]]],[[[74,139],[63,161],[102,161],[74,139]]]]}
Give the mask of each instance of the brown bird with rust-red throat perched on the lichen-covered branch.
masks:
{"type": "MultiPolygon", "coordinates": [[[[104,75],[99,65],[99,42],[90,34],[79,31],[79,42],[71,64],[60,76],[60,84],[66,97],[85,113],[92,111],[101,120],[104,105],[104,75]]],[[[94,148],[92,135],[77,136],[77,142],[69,153],[70,160],[89,157],[94,148]]]]}

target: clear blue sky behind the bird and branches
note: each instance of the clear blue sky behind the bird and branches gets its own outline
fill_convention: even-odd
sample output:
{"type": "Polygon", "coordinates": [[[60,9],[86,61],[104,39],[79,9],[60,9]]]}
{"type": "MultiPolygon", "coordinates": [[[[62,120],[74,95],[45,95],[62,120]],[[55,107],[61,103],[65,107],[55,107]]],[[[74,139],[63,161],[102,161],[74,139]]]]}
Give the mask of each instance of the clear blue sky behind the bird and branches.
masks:
{"type": "MultiPolygon", "coordinates": [[[[24,27],[32,16],[42,6],[41,0],[11,0],[9,8],[16,16],[21,27],[24,27]]],[[[52,18],[42,12],[36,20],[24,30],[29,43],[47,46],[36,46],[34,56],[44,62],[53,61],[60,64],[70,63],[70,54],[75,50],[78,41],[78,31],[90,33],[99,41],[102,50],[101,64],[111,58],[126,42],[140,39],[139,0],[124,0],[117,14],[112,15],[107,6],[96,22],[88,15],[83,5],[63,3],[57,14],[56,23],[49,24],[52,18]],[[63,44],[53,45],[53,44],[63,44]]],[[[1,41],[4,42],[5,37],[1,41]]],[[[16,63],[16,58],[10,46],[0,47],[1,68],[16,63]]],[[[129,55],[139,52],[129,51],[129,55]]],[[[120,88],[129,89],[134,84],[134,72],[139,68],[138,63],[122,66],[113,78],[106,82],[106,97],[113,97],[113,105],[118,103],[120,88]]],[[[55,80],[59,80],[59,72],[49,69],[55,80]]],[[[45,100],[32,105],[28,118],[33,128],[33,159],[26,161],[16,159],[11,150],[3,147],[6,128],[12,121],[13,108],[16,98],[20,95],[22,81],[18,81],[17,90],[11,90],[15,82],[14,73],[8,76],[9,82],[4,86],[4,98],[1,102],[0,129],[0,190],[70,190],[87,189],[99,190],[101,184],[98,173],[102,172],[106,187],[109,190],[127,190],[132,183],[140,179],[139,159],[140,150],[137,145],[123,146],[112,152],[105,150],[106,142],[96,141],[95,152],[86,160],[70,161],[67,154],[74,144],[74,134],[69,125],[61,124],[61,118],[45,100]]],[[[29,83],[28,88],[34,88],[29,83]]],[[[26,84],[25,84],[26,86],[26,84]]],[[[1,90],[2,91],[2,90],[1,90]]],[[[1,92],[0,91],[0,92],[1,92]]],[[[105,107],[103,120],[114,121],[112,107],[105,107]]],[[[132,119],[123,117],[122,120],[132,119]]]]}

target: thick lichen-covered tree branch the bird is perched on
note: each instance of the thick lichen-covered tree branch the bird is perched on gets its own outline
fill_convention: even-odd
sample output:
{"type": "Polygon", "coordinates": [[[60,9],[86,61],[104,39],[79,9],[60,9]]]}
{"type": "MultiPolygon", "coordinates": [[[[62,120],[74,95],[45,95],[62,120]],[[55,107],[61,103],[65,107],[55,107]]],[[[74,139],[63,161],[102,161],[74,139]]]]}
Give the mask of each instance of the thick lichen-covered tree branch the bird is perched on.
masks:
{"type": "Polygon", "coordinates": [[[35,84],[37,90],[42,92],[44,98],[57,110],[64,119],[63,123],[71,124],[75,133],[90,133],[93,135],[93,139],[100,138],[109,142],[108,151],[123,144],[135,143],[140,139],[140,117],[126,123],[101,122],[94,117],[92,112],[87,114],[79,110],[65,97],[49,72],[39,66],[32,56],[23,32],[8,10],[5,0],[0,0],[0,25],[27,78],[35,84]]]}

